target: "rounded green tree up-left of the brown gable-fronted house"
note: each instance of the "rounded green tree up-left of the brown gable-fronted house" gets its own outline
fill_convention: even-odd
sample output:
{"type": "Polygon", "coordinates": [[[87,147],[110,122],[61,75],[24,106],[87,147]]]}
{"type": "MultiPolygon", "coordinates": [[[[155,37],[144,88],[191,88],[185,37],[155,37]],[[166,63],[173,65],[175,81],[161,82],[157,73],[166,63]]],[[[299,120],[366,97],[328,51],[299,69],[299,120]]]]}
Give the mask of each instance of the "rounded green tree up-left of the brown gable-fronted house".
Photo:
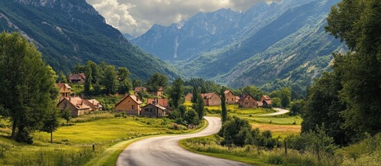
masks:
{"type": "Polygon", "coordinates": [[[117,72],[115,66],[107,65],[103,70],[103,86],[105,86],[106,95],[115,94],[117,91],[117,72]]]}

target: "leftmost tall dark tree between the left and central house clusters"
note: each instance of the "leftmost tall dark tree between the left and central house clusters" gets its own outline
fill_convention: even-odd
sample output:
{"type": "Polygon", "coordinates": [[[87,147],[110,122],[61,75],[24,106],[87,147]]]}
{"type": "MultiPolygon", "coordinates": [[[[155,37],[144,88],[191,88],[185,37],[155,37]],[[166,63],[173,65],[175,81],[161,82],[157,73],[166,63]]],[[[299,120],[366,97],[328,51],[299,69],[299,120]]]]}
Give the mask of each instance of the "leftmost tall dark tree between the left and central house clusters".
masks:
{"type": "Polygon", "coordinates": [[[184,82],[180,77],[173,82],[169,91],[169,99],[175,109],[184,102],[184,82]]]}

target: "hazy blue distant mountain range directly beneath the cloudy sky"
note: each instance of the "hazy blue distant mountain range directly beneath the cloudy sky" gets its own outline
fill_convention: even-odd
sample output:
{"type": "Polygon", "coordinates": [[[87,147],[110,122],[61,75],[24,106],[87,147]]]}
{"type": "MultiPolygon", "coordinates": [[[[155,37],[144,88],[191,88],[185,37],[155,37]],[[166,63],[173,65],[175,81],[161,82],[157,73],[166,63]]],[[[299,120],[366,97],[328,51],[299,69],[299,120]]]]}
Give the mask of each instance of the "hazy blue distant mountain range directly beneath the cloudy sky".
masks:
{"type": "Polygon", "coordinates": [[[199,12],[171,26],[154,24],[150,30],[131,42],[160,59],[192,59],[202,53],[245,39],[288,8],[309,1],[312,0],[285,0],[270,5],[260,2],[245,12],[230,9],[199,12]]]}

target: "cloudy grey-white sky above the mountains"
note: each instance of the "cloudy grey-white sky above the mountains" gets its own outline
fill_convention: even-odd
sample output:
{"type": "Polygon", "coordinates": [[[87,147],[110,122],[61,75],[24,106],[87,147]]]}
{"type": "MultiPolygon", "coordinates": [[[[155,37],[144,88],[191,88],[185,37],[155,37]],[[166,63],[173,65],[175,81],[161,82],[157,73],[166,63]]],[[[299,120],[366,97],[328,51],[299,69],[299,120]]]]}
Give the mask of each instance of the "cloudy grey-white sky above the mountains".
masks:
{"type": "Polygon", "coordinates": [[[189,19],[197,12],[221,8],[245,11],[259,1],[272,0],[86,0],[106,23],[135,37],[146,33],[153,24],[169,26],[189,19]]]}

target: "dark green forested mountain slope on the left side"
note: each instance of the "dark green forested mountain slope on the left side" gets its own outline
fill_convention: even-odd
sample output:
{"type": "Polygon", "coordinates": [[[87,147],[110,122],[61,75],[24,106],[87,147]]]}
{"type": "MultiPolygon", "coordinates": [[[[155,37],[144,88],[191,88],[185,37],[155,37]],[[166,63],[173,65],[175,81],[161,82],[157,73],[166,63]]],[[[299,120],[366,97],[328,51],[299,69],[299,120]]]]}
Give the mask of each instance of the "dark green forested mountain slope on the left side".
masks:
{"type": "Polygon", "coordinates": [[[0,30],[22,33],[55,71],[69,73],[87,60],[126,66],[133,77],[175,77],[169,64],[130,44],[85,0],[0,1],[0,30]],[[149,67],[142,67],[149,66],[149,67]]]}

